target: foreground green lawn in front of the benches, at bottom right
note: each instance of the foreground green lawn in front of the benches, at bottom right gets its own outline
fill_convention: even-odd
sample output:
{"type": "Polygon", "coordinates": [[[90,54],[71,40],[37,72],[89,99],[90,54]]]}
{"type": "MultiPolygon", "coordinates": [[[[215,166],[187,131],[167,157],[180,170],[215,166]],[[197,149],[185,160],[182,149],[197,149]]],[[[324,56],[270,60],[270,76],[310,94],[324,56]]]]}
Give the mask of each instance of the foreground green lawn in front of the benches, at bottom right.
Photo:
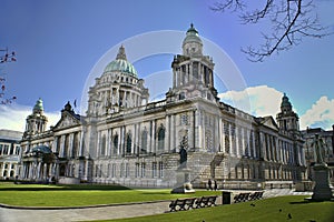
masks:
{"type": "MultiPolygon", "coordinates": [[[[135,219],[108,220],[112,222],[185,222],[185,221],[205,221],[205,222],[239,222],[239,221],[296,221],[296,222],[333,222],[334,202],[307,202],[305,196],[289,195],[237,203],[230,205],[219,205],[215,208],[196,209],[190,211],[165,213],[151,216],[141,216],[135,219]],[[254,203],[255,206],[252,206],[254,203]],[[282,210],[279,212],[279,209],[282,210]],[[291,213],[292,219],[287,214],[291,213]]],[[[107,222],[107,221],[104,221],[107,222]]]]}

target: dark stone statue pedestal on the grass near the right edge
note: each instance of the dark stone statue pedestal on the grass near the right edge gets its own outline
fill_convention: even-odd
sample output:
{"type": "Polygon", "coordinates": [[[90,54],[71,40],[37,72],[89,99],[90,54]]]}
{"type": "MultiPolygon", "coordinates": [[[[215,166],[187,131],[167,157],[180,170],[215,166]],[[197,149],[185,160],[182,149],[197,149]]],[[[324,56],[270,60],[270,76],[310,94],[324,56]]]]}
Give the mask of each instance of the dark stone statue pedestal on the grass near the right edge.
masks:
{"type": "Polygon", "coordinates": [[[313,189],[312,201],[330,201],[333,199],[333,193],[330,183],[330,169],[323,164],[313,167],[315,186],[313,189]]]}

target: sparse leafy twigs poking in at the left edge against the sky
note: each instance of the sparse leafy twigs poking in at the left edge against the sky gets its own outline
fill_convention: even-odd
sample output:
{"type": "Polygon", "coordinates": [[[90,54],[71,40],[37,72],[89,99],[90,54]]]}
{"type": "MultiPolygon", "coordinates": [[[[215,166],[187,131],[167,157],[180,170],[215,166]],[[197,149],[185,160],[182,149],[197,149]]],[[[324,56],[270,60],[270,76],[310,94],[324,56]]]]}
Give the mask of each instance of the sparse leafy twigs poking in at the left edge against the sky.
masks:
{"type": "MultiPolygon", "coordinates": [[[[7,63],[7,62],[14,62],[17,61],[16,52],[12,51],[9,53],[8,49],[0,49],[0,64],[7,63]]],[[[2,71],[2,70],[1,70],[2,71]]],[[[3,73],[0,73],[0,104],[8,104],[12,103],[17,99],[17,97],[6,98],[4,91],[6,91],[6,78],[3,73]]]]}

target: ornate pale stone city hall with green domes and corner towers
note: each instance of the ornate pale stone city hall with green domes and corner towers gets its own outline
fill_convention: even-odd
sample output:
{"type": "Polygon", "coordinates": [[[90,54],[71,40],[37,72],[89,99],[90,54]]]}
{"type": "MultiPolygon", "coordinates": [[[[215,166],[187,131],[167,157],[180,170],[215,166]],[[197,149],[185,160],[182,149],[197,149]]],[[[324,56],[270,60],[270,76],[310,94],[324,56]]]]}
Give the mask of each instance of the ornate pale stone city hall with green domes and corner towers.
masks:
{"type": "Polygon", "coordinates": [[[209,179],[225,188],[305,179],[298,115],[288,98],[284,94],[276,121],[220,102],[213,59],[203,54],[193,24],[180,43],[173,85],[160,101],[149,102],[149,89],[122,46],[90,87],[86,115],[68,102],[47,130],[38,100],[21,141],[20,180],[173,188],[181,147],[195,188],[209,179]]]}

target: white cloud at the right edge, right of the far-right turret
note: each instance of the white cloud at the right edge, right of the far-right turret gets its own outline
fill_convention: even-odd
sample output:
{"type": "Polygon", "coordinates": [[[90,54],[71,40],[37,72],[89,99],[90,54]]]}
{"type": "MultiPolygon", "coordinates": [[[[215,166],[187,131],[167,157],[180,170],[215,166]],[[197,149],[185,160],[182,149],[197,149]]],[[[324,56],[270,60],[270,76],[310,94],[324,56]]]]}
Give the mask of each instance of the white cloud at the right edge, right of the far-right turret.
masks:
{"type": "Polygon", "coordinates": [[[334,99],[328,100],[327,97],[321,97],[310,110],[301,117],[301,129],[323,128],[332,129],[334,124],[334,99]]]}

